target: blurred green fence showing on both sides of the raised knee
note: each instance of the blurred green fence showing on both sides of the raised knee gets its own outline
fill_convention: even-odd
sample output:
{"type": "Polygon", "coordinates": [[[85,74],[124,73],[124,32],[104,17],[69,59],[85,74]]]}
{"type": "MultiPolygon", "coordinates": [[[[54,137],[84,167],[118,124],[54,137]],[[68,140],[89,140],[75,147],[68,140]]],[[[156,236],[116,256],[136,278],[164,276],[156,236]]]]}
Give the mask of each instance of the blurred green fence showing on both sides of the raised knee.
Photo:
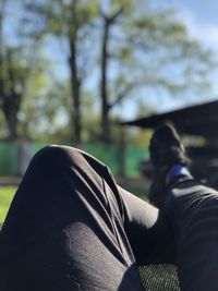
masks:
{"type": "MultiPolygon", "coordinates": [[[[31,158],[44,146],[41,143],[0,143],[0,175],[22,175],[31,158]]],[[[81,148],[108,165],[113,174],[128,177],[138,177],[140,161],[148,158],[145,147],[85,144],[81,148]]]]}

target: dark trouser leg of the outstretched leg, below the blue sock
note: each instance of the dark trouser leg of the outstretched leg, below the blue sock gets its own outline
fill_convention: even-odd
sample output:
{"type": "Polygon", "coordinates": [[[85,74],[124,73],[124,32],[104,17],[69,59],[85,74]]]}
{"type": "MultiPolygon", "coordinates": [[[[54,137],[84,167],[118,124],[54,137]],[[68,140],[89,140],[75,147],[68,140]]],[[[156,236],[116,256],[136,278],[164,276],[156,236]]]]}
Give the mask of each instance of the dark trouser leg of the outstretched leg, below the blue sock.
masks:
{"type": "Polygon", "coordinates": [[[182,291],[218,290],[218,193],[193,179],[168,190],[166,215],[172,226],[182,291]]]}

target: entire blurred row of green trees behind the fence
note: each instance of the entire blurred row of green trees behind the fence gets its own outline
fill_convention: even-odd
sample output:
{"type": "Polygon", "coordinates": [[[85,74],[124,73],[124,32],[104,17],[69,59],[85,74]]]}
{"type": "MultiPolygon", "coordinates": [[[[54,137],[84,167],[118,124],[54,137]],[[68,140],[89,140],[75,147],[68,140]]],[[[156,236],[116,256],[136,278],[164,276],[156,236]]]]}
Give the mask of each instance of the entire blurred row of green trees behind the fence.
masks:
{"type": "Polygon", "coordinates": [[[214,59],[158,1],[2,0],[0,138],[111,143],[166,96],[204,97],[214,59]]]}

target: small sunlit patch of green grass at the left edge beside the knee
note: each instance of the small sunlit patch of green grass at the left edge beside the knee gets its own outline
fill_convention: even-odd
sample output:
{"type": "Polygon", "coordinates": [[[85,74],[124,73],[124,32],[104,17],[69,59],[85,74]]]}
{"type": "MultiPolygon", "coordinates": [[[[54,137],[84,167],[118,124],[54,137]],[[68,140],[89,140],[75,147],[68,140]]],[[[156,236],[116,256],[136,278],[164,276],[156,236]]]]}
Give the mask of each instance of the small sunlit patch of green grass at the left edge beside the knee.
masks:
{"type": "Polygon", "coordinates": [[[16,187],[14,186],[0,187],[0,223],[3,222],[5,218],[11,201],[15,194],[15,191],[16,187]]]}

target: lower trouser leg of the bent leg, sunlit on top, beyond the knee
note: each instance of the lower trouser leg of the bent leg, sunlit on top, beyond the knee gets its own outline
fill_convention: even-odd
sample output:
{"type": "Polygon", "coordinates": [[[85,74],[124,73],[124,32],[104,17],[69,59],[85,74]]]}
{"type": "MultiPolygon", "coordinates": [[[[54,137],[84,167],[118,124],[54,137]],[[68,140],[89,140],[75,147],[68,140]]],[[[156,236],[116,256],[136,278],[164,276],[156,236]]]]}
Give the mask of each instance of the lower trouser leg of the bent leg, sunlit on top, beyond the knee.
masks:
{"type": "Polygon", "coordinates": [[[168,218],[150,204],[118,189],[124,204],[124,228],[137,265],[174,264],[174,238],[168,218]]]}

